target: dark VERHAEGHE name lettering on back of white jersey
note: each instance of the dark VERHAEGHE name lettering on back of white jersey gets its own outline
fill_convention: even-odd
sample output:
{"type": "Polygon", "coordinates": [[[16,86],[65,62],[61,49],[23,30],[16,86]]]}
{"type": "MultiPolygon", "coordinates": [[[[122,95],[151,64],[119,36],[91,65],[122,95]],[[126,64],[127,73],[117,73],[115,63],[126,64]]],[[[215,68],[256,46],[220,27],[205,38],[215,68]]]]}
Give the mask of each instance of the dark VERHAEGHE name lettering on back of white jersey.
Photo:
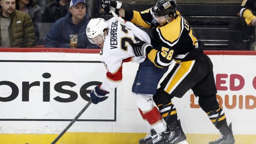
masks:
{"type": "Polygon", "coordinates": [[[110,49],[116,49],[117,48],[117,27],[118,27],[118,21],[111,23],[110,28],[110,49]]]}

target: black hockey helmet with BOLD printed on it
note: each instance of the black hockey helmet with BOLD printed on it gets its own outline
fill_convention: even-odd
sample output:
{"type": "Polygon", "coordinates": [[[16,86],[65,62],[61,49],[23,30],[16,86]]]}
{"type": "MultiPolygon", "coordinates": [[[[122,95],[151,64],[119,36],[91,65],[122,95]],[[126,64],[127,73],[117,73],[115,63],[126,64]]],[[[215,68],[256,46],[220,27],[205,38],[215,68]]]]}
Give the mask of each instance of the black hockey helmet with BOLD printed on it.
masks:
{"type": "Polygon", "coordinates": [[[153,13],[155,16],[174,16],[176,13],[176,4],[172,0],[159,0],[153,7],[153,13]]]}

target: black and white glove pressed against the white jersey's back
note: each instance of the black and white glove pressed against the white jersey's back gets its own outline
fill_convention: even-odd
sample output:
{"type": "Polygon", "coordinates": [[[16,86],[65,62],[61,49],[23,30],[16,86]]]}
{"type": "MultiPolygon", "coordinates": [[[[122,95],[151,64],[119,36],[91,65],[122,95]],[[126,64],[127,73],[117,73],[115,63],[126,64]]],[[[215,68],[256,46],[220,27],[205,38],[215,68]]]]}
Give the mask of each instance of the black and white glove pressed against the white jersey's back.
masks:
{"type": "Polygon", "coordinates": [[[145,56],[147,57],[147,53],[151,51],[152,49],[152,45],[144,42],[144,41],[140,41],[138,43],[133,43],[133,51],[135,56],[145,56]]]}

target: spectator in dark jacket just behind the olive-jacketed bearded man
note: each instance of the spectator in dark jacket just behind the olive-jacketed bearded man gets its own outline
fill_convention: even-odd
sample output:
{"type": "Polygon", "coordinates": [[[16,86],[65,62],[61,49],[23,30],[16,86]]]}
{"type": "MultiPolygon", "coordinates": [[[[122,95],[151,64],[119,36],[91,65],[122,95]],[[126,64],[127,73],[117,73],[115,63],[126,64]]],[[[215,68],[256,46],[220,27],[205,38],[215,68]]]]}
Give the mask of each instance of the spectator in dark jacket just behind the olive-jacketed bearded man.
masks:
{"type": "Polygon", "coordinates": [[[35,30],[35,44],[39,44],[39,28],[37,23],[42,22],[41,7],[34,0],[16,0],[16,9],[30,15],[35,30]]]}

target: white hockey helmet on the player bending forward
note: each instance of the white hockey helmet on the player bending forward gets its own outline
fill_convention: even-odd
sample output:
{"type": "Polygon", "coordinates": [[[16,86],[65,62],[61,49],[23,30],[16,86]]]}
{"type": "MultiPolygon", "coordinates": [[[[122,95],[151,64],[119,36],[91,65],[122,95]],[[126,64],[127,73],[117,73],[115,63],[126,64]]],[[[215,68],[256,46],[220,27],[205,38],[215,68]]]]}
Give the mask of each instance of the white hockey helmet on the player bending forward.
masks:
{"type": "Polygon", "coordinates": [[[108,31],[108,24],[103,18],[92,18],[86,28],[86,35],[90,42],[95,43],[93,38],[98,35],[103,37],[105,40],[104,30],[108,31]]]}

